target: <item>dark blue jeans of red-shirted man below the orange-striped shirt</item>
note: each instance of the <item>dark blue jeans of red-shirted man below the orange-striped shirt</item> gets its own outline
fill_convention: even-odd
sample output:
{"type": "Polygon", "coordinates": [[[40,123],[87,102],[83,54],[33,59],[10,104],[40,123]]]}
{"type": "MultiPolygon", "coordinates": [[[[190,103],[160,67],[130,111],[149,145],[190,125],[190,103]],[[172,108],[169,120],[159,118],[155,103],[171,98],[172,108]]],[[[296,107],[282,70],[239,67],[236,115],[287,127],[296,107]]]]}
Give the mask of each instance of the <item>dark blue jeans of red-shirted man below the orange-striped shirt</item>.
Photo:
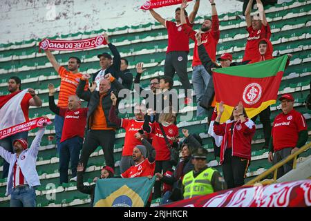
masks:
{"type": "Polygon", "coordinates": [[[70,168],[72,177],[77,176],[77,164],[79,162],[79,154],[82,148],[82,137],[73,137],[59,144],[59,183],[68,183],[68,167],[70,168]]]}

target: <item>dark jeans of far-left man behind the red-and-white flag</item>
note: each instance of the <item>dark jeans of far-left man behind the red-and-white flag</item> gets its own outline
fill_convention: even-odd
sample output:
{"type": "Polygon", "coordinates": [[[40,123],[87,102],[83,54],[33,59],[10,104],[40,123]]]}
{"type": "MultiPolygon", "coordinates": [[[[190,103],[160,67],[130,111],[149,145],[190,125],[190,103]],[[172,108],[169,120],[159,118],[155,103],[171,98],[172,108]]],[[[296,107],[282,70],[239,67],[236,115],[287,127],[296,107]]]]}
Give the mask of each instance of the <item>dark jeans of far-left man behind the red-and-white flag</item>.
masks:
{"type": "MultiPolygon", "coordinates": [[[[23,138],[27,140],[28,137],[28,131],[24,131],[21,133],[16,133],[15,135],[12,135],[10,137],[6,137],[3,140],[0,140],[0,146],[2,146],[6,151],[9,151],[11,153],[14,153],[14,147],[13,142],[19,138],[23,138]]],[[[6,160],[3,160],[3,173],[2,178],[8,177],[8,169],[10,168],[10,164],[6,162],[6,160]]]]}

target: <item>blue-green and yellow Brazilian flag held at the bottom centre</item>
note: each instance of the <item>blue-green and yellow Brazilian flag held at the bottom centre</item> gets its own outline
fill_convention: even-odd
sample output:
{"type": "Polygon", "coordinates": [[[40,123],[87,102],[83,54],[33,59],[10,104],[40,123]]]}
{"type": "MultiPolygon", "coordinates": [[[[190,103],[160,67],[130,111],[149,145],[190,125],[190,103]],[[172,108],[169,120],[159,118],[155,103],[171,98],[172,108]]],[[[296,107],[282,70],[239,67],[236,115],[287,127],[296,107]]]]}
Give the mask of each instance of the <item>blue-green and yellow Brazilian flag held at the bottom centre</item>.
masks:
{"type": "Polygon", "coordinates": [[[94,207],[144,207],[156,177],[97,180],[94,207]]]}

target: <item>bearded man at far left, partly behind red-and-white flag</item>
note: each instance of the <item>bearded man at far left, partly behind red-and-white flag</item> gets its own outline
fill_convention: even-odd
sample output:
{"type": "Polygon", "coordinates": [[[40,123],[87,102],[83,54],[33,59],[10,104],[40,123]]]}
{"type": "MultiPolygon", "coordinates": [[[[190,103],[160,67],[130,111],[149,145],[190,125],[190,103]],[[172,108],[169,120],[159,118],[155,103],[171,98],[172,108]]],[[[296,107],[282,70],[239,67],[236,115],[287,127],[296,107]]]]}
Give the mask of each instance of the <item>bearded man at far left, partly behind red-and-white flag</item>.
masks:
{"type": "MultiPolygon", "coordinates": [[[[10,77],[8,81],[8,91],[10,92],[10,95],[15,95],[19,92],[21,92],[21,79],[16,76],[10,77]]],[[[23,115],[26,119],[26,121],[29,120],[28,117],[28,111],[30,106],[41,106],[42,101],[41,99],[36,95],[35,90],[32,88],[28,89],[28,93],[23,97],[21,100],[21,110],[23,111],[23,115]]],[[[2,128],[1,128],[2,129],[2,128]]],[[[6,151],[9,151],[10,153],[13,153],[13,142],[17,139],[24,139],[27,141],[28,137],[28,131],[24,131],[21,133],[16,133],[15,135],[11,135],[9,137],[6,137],[2,140],[0,140],[0,146],[6,149],[6,151]]],[[[8,177],[8,169],[10,164],[3,161],[3,173],[2,178],[8,177]]]]}

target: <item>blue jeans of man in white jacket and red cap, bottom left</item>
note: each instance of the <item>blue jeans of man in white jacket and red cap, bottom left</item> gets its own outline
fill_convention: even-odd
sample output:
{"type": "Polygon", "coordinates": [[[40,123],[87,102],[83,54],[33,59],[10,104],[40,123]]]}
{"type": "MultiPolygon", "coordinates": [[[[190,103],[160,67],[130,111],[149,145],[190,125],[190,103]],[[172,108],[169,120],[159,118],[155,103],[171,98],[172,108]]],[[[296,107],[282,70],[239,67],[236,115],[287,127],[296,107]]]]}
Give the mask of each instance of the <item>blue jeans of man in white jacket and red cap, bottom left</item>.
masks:
{"type": "Polygon", "coordinates": [[[13,189],[10,207],[36,207],[35,187],[25,185],[13,189]]]}

